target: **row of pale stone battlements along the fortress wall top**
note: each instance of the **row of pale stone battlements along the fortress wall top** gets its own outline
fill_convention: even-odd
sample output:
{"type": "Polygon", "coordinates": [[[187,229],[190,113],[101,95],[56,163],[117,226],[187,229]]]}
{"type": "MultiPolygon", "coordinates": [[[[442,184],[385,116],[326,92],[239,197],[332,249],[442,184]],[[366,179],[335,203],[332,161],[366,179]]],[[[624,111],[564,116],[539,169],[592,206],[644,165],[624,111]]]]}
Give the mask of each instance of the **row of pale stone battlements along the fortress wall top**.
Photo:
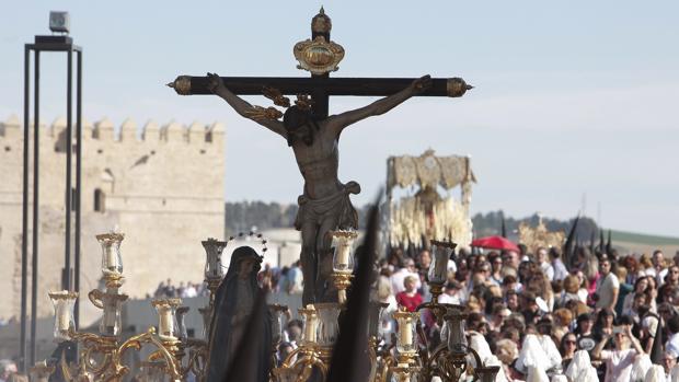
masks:
{"type": "MultiPolygon", "coordinates": [[[[73,134],[76,130],[73,120],[73,134]]],[[[31,121],[33,127],[33,121],[31,121]]],[[[41,124],[41,129],[45,130],[41,137],[58,140],[64,138],[66,131],[66,118],[58,117],[49,126],[41,124]]],[[[125,119],[117,128],[106,117],[94,124],[83,118],[82,138],[83,140],[111,141],[119,144],[127,142],[183,142],[188,144],[210,144],[222,142],[225,126],[221,123],[204,125],[193,121],[191,125],[180,124],[171,120],[164,125],[159,125],[154,120],[148,120],[139,125],[131,118],[125,119]]],[[[16,115],[11,115],[4,121],[0,121],[0,141],[22,140],[23,124],[16,115]]]]}

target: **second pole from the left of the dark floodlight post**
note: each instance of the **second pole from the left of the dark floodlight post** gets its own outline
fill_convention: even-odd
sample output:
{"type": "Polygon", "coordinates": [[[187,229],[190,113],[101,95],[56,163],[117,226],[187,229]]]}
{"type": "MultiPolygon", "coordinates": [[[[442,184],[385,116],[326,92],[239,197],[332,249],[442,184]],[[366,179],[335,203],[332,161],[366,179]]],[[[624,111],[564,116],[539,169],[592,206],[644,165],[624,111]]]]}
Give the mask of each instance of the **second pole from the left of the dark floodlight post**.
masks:
{"type": "Polygon", "coordinates": [[[38,213],[39,213],[39,131],[41,131],[41,51],[35,50],[35,88],[33,90],[33,259],[31,262],[31,357],[28,364],[35,364],[35,332],[37,324],[37,253],[38,253],[38,213]]]}

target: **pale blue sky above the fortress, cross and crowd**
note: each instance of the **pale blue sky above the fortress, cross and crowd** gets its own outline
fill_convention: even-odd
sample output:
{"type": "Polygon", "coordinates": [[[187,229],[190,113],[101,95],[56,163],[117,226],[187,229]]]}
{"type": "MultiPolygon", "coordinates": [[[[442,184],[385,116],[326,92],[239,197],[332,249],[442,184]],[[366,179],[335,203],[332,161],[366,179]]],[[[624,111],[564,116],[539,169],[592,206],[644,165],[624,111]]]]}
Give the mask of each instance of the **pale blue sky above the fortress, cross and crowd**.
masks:
{"type": "MultiPolygon", "coordinates": [[[[84,48],[84,116],[227,124],[227,200],[294,202],[285,141],[217,97],[182,97],[177,74],[308,76],[292,45],[320,2],[4,1],[0,118],[22,114],[23,44],[68,10],[84,48]]],[[[417,99],[342,136],[341,180],[369,201],[385,159],[471,154],[474,211],[573,217],[679,235],[679,2],[325,1],[346,49],[336,77],[463,77],[463,99],[417,99]],[[599,208],[600,206],[600,208],[599,208]],[[600,215],[598,211],[600,210],[600,215]]],[[[43,118],[64,115],[65,58],[44,58],[43,118]]],[[[251,101],[267,105],[264,99],[251,101]]],[[[335,99],[331,113],[371,99],[335,99]]]]}

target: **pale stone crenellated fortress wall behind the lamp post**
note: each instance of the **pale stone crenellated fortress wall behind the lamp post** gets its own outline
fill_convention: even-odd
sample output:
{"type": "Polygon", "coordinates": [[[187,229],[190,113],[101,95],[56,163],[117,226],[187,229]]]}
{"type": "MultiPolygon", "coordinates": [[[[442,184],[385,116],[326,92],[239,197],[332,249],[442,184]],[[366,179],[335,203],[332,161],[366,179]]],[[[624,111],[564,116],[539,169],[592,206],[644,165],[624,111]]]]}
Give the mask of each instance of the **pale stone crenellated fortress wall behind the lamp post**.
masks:
{"type": "MultiPolygon", "coordinates": [[[[39,311],[51,314],[46,293],[60,289],[65,254],[66,119],[39,128],[39,311]]],[[[102,118],[83,120],[82,138],[80,292],[100,278],[94,235],[114,227],[126,234],[126,293],[143,297],[166,278],[200,281],[200,240],[223,236],[223,125],[102,118]]],[[[0,290],[12,292],[0,317],[18,316],[20,309],[22,166],[23,127],[10,116],[0,123],[0,290]]],[[[74,183],[74,171],[72,176],[74,183]]],[[[83,322],[97,315],[83,312],[83,322]]]]}

